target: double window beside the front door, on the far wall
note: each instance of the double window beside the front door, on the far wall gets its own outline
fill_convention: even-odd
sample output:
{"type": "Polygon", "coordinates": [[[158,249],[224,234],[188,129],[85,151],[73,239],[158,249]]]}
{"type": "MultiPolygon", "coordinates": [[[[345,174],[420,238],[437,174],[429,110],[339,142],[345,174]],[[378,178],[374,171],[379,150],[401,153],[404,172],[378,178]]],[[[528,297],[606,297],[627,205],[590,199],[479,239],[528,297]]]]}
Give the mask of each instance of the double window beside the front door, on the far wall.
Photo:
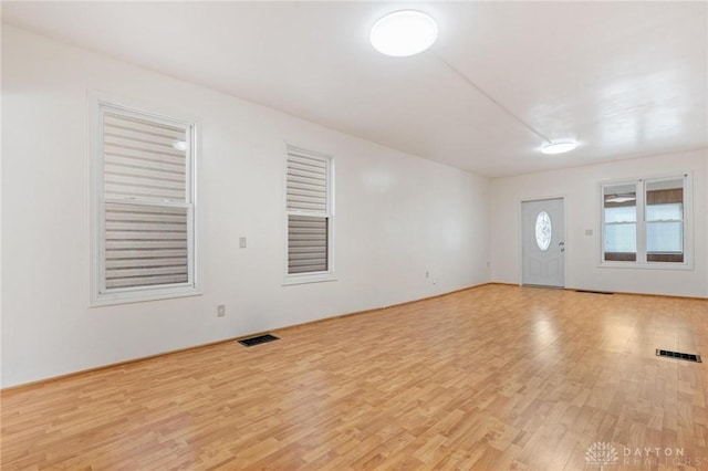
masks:
{"type": "Polygon", "coordinates": [[[605,184],[603,261],[684,264],[687,176],[605,184]]]}

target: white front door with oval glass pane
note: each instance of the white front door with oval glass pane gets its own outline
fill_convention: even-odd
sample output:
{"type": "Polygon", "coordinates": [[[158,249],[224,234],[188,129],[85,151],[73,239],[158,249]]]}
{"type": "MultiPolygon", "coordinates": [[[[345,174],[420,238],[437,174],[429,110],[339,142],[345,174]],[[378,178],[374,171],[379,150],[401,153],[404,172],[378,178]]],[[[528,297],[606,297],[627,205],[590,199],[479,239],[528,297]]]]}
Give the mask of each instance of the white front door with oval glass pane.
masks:
{"type": "Polygon", "coordinates": [[[522,284],[565,286],[563,199],[521,203],[522,284]]]}

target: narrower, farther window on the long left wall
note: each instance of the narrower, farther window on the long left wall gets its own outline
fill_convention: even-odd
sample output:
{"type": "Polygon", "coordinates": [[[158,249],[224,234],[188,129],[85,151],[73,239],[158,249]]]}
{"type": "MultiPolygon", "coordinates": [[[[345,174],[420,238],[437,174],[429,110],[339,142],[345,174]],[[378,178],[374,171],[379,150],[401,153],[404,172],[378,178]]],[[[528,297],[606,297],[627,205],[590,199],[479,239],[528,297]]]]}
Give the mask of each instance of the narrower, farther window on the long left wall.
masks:
{"type": "Polygon", "coordinates": [[[332,272],[332,157],[288,147],[288,275],[332,272]]]}

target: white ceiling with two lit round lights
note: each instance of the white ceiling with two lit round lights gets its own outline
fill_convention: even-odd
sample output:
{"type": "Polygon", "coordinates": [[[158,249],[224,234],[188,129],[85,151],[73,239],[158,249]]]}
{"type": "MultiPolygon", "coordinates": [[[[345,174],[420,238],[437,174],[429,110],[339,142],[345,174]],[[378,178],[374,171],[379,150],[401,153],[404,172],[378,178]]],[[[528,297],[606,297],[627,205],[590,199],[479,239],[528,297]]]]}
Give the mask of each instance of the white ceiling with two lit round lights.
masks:
{"type": "Polygon", "coordinates": [[[708,146],[705,1],[3,1],[2,17],[487,176],[708,146]],[[438,21],[437,43],[379,54],[371,25],[407,7],[438,21]],[[580,147],[540,154],[504,108],[580,147]]]}

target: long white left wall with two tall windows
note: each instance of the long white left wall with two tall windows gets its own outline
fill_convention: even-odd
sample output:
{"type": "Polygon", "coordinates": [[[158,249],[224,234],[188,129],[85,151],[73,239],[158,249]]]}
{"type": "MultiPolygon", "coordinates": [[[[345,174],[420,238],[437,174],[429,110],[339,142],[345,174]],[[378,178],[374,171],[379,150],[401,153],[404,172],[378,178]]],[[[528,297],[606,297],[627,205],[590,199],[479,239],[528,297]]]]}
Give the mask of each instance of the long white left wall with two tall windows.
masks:
{"type": "Polygon", "coordinates": [[[3,387],[489,281],[487,179],[7,25],[2,125],[3,387]],[[87,307],[88,90],[198,119],[201,296],[87,307]],[[339,281],[281,285],[284,142],[336,157],[339,281]]]}

